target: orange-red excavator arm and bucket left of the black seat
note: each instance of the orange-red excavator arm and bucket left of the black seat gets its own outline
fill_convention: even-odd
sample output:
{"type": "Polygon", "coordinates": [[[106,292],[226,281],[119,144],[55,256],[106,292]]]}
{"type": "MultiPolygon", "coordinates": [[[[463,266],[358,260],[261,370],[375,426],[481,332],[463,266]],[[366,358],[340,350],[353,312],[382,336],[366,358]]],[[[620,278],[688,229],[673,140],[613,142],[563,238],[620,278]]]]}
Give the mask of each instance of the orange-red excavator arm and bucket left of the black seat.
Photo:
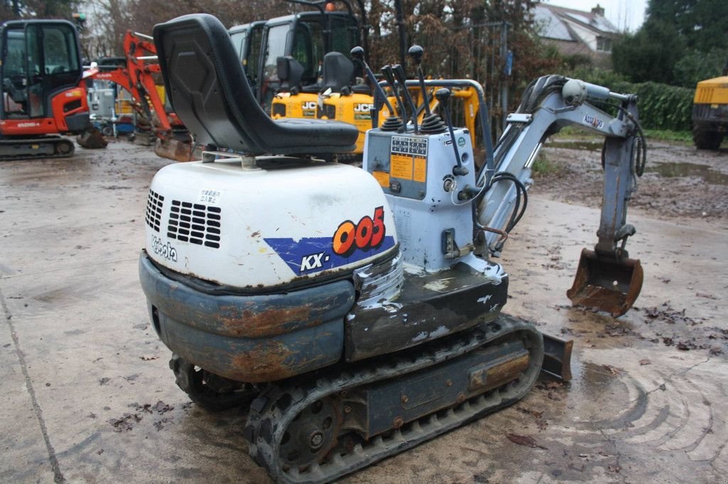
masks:
{"type": "Polygon", "coordinates": [[[180,119],[168,111],[157,91],[154,75],[159,73],[157,49],[151,37],[127,31],[124,36],[126,57],[113,57],[101,62],[92,79],[111,81],[130,92],[141,121],[138,135],[157,138],[155,153],[164,158],[186,162],[193,159],[189,132],[180,119]],[[108,62],[113,60],[114,62],[108,62]]]}

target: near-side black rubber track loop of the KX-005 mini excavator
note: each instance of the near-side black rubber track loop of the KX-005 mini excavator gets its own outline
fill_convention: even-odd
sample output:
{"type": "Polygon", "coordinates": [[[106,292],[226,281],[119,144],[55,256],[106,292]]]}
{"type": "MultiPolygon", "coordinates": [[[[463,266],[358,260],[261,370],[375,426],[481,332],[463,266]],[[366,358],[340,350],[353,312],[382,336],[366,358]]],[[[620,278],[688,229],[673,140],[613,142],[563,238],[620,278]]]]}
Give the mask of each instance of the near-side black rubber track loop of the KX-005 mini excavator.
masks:
{"type": "Polygon", "coordinates": [[[300,379],[294,379],[284,386],[269,385],[250,405],[248,425],[243,435],[248,440],[250,456],[258,465],[268,470],[275,482],[329,483],[520,400],[536,382],[542,360],[542,335],[534,325],[501,315],[494,322],[418,346],[414,351],[409,350],[389,355],[386,359],[371,359],[348,365],[335,375],[323,376],[304,383],[301,383],[300,379]],[[298,469],[285,471],[280,467],[278,449],[285,429],[301,410],[317,400],[342,390],[401,376],[451,360],[498,338],[515,333],[526,333],[531,340],[529,349],[531,365],[519,380],[518,386],[490,390],[462,404],[419,418],[394,430],[387,437],[379,435],[364,445],[357,444],[352,453],[345,456],[335,453],[331,461],[321,465],[313,464],[304,472],[299,472],[298,469]]]}

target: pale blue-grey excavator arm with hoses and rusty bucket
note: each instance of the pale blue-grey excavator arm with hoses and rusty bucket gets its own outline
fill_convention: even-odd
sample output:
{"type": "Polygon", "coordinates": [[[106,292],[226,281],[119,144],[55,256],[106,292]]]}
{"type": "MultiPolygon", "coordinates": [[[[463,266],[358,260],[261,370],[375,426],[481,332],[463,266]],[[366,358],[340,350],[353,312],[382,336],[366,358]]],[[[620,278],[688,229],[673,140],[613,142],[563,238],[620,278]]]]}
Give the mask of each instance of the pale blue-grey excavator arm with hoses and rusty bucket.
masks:
{"type": "Polygon", "coordinates": [[[483,237],[476,242],[476,251],[499,254],[525,208],[531,167],[547,136],[569,125],[596,132],[606,138],[598,242],[594,250],[582,250],[574,285],[567,295],[574,304],[596,307],[614,316],[624,314],[636,300],[643,279],[640,262],[628,258],[625,250],[628,237],[635,234],[634,226],[626,221],[627,206],[645,161],[636,96],[577,79],[543,76],[529,86],[507,123],[493,161],[488,159],[478,178],[478,186],[483,188],[477,192],[476,225],[483,230],[483,237]],[[587,99],[617,100],[617,116],[592,106],[587,99]]]}

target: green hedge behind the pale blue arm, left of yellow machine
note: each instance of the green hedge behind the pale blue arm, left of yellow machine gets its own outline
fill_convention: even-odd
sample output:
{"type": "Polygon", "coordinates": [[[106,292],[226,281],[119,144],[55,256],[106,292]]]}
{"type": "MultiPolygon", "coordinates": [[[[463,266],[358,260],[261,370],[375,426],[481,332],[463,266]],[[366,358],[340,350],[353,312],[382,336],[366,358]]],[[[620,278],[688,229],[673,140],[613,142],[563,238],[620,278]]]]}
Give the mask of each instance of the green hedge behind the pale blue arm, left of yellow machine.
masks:
{"type": "Polygon", "coordinates": [[[646,130],[692,130],[692,100],[695,97],[695,89],[658,82],[633,84],[618,79],[618,76],[609,71],[597,69],[577,71],[573,74],[577,79],[609,87],[614,92],[636,94],[639,119],[646,130]]]}

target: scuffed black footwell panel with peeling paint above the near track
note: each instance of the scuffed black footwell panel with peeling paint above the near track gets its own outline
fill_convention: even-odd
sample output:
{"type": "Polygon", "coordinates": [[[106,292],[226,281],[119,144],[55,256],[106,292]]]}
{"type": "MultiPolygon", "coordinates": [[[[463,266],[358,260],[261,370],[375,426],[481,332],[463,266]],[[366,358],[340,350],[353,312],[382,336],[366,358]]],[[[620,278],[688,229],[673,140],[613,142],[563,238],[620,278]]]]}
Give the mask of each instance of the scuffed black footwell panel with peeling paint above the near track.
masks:
{"type": "Polygon", "coordinates": [[[507,301],[507,276],[496,284],[458,269],[405,274],[396,301],[357,305],[347,316],[347,361],[422,344],[494,320],[507,301]]]}

